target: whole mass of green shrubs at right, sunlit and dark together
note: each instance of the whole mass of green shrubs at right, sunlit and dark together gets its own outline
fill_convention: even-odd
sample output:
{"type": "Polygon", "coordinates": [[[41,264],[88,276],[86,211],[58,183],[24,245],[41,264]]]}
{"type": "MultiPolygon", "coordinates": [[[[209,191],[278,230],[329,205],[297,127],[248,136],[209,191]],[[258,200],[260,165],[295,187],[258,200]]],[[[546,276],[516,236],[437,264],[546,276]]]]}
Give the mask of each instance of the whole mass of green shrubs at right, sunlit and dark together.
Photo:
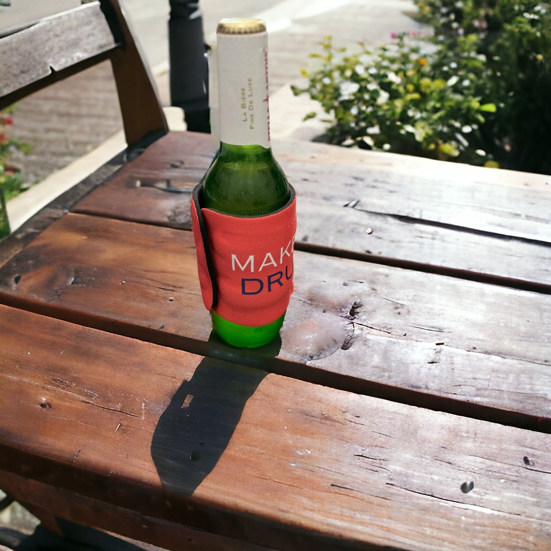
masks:
{"type": "Polygon", "coordinates": [[[548,3],[416,3],[434,37],[352,55],[326,39],[312,55],[320,65],[294,93],[320,102],[329,141],[551,173],[548,3]]]}

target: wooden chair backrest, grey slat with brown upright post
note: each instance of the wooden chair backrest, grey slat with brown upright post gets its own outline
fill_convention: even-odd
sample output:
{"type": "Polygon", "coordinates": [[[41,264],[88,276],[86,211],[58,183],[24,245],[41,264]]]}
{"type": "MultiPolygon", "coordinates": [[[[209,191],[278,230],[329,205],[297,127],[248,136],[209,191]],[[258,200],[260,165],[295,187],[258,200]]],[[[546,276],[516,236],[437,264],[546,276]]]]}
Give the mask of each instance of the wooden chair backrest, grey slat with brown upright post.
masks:
{"type": "Polygon", "coordinates": [[[106,59],[128,146],[166,132],[153,79],[117,0],[87,3],[0,39],[0,109],[106,59]]]}

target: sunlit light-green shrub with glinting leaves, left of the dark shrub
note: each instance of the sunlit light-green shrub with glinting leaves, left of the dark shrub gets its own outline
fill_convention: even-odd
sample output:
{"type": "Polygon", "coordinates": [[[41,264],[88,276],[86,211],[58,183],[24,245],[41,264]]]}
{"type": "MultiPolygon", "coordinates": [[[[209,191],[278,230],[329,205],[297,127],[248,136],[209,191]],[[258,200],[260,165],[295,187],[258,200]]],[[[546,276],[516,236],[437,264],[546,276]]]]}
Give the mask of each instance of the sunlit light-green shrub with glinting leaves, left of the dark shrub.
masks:
{"type": "MultiPolygon", "coordinates": [[[[452,62],[441,68],[433,53],[406,45],[404,36],[377,52],[362,46],[343,56],[329,38],[322,48],[315,56],[321,67],[306,75],[309,86],[294,92],[309,93],[331,116],[331,143],[467,163],[487,160],[472,143],[480,141],[484,113],[495,106],[481,105],[471,93],[476,75],[468,67],[452,62]]],[[[479,64],[476,58],[462,59],[465,66],[479,64]]]]}

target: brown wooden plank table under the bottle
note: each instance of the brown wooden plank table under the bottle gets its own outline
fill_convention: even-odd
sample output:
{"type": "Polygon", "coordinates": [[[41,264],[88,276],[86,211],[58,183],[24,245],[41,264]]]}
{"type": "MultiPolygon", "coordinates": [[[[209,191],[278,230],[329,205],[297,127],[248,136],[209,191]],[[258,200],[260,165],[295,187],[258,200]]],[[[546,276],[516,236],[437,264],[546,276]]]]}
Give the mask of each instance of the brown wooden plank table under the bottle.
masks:
{"type": "Polygon", "coordinates": [[[169,549],[551,549],[551,177],[274,143],[295,292],[247,352],[189,231],[213,143],[140,152],[2,243],[0,488],[169,549]]]}

